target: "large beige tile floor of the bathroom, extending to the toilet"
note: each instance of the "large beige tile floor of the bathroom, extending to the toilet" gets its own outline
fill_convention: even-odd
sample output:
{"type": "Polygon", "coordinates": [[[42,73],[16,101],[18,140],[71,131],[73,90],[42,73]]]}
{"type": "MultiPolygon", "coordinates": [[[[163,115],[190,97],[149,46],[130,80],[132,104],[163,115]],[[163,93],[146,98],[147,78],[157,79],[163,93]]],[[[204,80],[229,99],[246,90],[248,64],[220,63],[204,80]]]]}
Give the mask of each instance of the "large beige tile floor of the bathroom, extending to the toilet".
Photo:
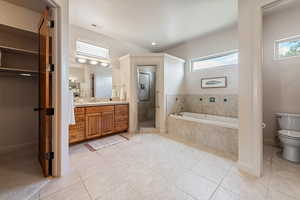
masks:
{"type": "Polygon", "coordinates": [[[265,175],[254,178],[236,163],[165,137],[139,134],[90,152],[72,146],[72,172],[44,187],[41,200],[297,200],[300,166],[264,149],[265,175]]]}

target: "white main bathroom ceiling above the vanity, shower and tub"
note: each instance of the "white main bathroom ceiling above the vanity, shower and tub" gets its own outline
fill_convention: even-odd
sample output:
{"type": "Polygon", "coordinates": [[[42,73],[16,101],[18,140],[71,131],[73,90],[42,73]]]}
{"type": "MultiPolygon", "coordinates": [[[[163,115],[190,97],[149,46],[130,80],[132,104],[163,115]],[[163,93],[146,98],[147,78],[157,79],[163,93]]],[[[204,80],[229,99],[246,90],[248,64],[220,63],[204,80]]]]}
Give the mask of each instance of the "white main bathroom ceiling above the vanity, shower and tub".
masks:
{"type": "Polygon", "coordinates": [[[150,50],[163,50],[232,25],[237,16],[237,0],[70,1],[71,24],[150,50]],[[153,47],[151,42],[158,45],[153,47]]]}

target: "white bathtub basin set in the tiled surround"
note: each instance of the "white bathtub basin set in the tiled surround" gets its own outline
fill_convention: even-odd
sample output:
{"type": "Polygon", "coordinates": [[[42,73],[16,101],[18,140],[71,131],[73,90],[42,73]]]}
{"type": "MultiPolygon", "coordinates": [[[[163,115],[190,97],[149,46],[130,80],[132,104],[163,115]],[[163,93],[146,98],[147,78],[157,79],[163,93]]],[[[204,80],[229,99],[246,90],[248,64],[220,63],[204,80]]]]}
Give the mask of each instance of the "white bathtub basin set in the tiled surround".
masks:
{"type": "Polygon", "coordinates": [[[176,119],[188,120],[198,123],[210,124],[224,128],[238,129],[238,119],[233,117],[223,117],[217,115],[199,114],[191,112],[181,112],[171,115],[176,119]]]}

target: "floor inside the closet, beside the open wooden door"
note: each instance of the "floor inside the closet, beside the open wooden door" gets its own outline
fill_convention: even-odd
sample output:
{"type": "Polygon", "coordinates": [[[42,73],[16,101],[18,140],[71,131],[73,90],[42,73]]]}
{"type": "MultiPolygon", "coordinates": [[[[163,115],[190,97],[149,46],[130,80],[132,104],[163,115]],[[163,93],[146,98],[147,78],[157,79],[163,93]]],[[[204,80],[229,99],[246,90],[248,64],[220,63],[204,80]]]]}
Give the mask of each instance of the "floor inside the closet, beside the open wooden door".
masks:
{"type": "Polygon", "coordinates": [[[36,145],[0,155],[1,200],[27,200],[46,185],[37,155],[36,145]]]}

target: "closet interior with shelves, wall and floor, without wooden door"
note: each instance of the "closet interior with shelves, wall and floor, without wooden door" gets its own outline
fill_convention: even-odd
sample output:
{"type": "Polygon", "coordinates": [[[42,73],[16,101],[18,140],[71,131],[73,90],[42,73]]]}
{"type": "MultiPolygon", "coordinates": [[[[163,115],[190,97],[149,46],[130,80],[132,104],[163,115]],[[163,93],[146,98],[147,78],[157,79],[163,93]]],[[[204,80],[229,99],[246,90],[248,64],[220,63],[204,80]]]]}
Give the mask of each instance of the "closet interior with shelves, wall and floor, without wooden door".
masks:
{"type": "Polygon", "coordinates": [[[0,199],[27,199],[47,182],[38,161],[38,33],[0,25],[0,91],[0,199]]]}

